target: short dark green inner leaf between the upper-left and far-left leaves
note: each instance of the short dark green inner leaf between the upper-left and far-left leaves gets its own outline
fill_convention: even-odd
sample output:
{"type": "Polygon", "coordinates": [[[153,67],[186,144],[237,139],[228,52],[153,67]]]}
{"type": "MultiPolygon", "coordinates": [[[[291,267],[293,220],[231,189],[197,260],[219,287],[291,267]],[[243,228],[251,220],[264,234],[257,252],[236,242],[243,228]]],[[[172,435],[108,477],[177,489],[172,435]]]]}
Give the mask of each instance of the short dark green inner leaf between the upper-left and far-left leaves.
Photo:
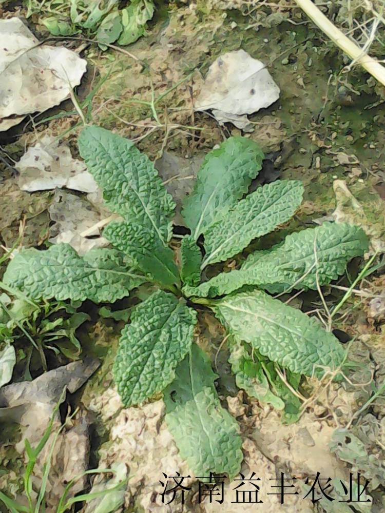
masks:
{"type": "Polygon", "coordinates": [[[174,253],[164,246],[152,230],[128,223],[110,223],[103,235],[111,244],[123,251],[136,266],[167,287],[179,285],[179,272],[174,263],[174,253]]]}

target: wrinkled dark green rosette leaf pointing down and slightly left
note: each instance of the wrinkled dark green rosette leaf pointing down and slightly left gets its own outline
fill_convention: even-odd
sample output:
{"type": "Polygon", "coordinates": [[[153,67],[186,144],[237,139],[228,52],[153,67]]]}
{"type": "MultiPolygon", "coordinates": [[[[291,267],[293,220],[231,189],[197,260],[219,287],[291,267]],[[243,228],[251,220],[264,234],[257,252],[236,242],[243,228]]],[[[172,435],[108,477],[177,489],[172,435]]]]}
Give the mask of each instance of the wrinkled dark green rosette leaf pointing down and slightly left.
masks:
{"type": "Polygon", "coordinates": [[[131,314],[113,366],[123,404],[139,404],[161,392],[191,346],[196,312],[183,299],[158,290],[131,314]]]}

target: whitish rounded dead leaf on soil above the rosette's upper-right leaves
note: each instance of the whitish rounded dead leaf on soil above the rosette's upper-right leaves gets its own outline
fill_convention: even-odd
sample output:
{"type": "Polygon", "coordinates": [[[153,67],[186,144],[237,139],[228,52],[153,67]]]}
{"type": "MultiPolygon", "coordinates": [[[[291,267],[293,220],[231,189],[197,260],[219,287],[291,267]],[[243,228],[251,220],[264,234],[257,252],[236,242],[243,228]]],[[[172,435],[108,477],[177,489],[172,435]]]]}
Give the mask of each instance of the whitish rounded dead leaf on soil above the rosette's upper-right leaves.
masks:
{"type": "Polygon", "coordinates": [[[249,130],[245,114],[272,105],[279,93],[265,65],[244,50],[237,50],[221,55],[211,64],[194,108],[213,109],[220,124],[230,122],[249,130]]]}

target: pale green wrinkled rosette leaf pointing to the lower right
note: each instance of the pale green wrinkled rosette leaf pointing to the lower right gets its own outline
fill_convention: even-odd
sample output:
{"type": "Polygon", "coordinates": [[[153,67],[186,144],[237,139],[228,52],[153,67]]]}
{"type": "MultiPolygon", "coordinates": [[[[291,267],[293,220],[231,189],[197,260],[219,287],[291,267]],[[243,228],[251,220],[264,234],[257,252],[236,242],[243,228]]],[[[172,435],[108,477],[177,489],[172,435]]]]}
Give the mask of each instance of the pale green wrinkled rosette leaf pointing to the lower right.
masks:
{"type": "Polygon", "coordinates": [[[342,364],[344,350],[331,332],[262,290],[229,295],[211,308],[235,339],[292,372],[320,378],[342,364]]]}

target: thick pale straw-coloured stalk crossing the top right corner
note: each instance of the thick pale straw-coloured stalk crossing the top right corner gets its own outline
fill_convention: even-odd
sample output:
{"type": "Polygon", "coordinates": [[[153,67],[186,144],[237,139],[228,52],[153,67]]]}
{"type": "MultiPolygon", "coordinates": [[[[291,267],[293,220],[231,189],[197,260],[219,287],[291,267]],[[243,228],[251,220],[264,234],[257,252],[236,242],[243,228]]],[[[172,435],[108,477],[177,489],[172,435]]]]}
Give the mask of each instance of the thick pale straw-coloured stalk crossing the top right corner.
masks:
{"type": "Polygon", "coordinates": [[[295,0],[295,2],[336,46],[374,76],[380,84],[385,86],[385,68],[378,61],[363,52],[348,36],[345,36],[311,0],[295,0]]]}

